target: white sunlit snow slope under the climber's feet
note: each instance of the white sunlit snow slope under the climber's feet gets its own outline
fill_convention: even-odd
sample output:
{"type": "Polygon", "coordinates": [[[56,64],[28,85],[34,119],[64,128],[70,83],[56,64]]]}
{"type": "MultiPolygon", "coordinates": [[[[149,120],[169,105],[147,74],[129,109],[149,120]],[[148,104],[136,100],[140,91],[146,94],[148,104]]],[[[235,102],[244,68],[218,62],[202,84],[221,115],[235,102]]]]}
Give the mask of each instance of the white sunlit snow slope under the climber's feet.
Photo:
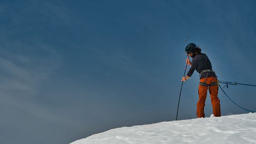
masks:
{"type": "Polygon", "coordinates": [[[121,127],[71,144],[256,144],[256,113],[121,127]]]}

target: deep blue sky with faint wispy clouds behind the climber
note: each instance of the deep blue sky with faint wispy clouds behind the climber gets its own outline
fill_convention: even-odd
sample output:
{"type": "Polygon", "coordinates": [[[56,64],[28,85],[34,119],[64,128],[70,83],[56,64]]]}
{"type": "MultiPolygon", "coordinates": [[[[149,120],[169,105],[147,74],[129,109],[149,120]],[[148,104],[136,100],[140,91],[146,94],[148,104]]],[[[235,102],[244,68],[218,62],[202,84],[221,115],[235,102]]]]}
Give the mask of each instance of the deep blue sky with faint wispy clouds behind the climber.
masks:
{"type": "MultiPolygon", "coordinates": [[[[254,0],[1,0],[0,143],[67,144],[173,121],[188,43],[221,81],[256,84],[254,0]]],[[[196,118],[199,75],[178,119],[196,118]]],[[[224,86],[224,85],[222,85],[224,86]]],[[[254,87],[224,89],[256,110],[254,87]]],[[[247,113],[219,91],[221,113],[247,113]]],[[[212,114],[207,96],[206,117],[212,114]]]]}

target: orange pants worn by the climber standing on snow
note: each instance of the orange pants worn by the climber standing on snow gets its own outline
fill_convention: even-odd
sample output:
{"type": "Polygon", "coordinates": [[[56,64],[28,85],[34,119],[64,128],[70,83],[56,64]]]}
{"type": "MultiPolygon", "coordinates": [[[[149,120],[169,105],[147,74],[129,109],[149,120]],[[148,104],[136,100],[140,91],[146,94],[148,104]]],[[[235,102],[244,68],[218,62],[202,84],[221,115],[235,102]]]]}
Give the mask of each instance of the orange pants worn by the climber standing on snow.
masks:
{"type": "MultiPolygon", "coordinates": [[[[212,82],[217,82],[217,78],[209,77],[206,79],[206,81],[205,81],[205,78],[202,78],[200,82],[210,84],[212,82]]],[[[213,115],[216,117],[221,116],[221,105],[220,105],[220,100],[218,99],[218,85],[202,86],[199,84],[199,89],[198,89],[199,100],[197,103],[197,110],[196,110],[198,118],[202,118],[202,117],[204,118],[204,106],[205,106],[208,87],[209,87],[209,92],[211,96],[213,115]]]]}

